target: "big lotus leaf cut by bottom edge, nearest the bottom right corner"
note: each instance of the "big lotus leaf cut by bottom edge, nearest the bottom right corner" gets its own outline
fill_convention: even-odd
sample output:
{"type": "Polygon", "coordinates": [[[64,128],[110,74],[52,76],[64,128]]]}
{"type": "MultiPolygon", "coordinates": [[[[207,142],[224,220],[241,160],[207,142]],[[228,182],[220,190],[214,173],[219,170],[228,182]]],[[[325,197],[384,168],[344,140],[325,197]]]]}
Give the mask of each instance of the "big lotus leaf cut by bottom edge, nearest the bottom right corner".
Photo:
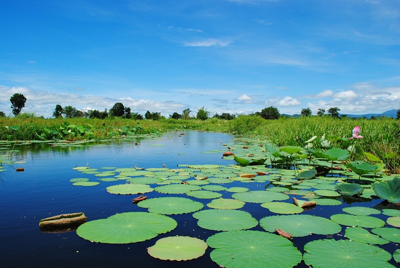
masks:
{"type": "Polygon", "coordinates": [[[393,267],[389,252],[370,244],[350,240],[314,240],[304,245],[303,259],[312,267],[393,267]]]}

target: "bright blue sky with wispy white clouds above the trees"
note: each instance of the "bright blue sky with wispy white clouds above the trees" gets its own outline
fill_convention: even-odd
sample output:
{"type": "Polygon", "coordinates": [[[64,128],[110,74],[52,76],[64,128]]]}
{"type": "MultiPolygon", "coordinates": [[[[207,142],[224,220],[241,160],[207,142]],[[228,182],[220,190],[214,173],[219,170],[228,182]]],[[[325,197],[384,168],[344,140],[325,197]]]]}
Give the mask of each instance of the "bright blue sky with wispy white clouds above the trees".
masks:
{"type": "Polygon", "coordinates": [[[398,0],[3,0],[0,110],[400,108],[398,0]]]}

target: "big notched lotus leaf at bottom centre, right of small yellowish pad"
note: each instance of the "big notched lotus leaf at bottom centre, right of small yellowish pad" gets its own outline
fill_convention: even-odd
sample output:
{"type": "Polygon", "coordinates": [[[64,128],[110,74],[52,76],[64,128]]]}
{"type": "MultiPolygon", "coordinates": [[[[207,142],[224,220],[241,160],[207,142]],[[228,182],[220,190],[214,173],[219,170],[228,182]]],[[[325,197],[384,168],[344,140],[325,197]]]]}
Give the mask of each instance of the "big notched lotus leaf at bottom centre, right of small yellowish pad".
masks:
{"type": "Polygon", "coordinates": [[[221,267],[293,267],[301,252],[286,238],[263,231],[240,230],[216,233],[206,240],[210,257],[221,267]]]}

